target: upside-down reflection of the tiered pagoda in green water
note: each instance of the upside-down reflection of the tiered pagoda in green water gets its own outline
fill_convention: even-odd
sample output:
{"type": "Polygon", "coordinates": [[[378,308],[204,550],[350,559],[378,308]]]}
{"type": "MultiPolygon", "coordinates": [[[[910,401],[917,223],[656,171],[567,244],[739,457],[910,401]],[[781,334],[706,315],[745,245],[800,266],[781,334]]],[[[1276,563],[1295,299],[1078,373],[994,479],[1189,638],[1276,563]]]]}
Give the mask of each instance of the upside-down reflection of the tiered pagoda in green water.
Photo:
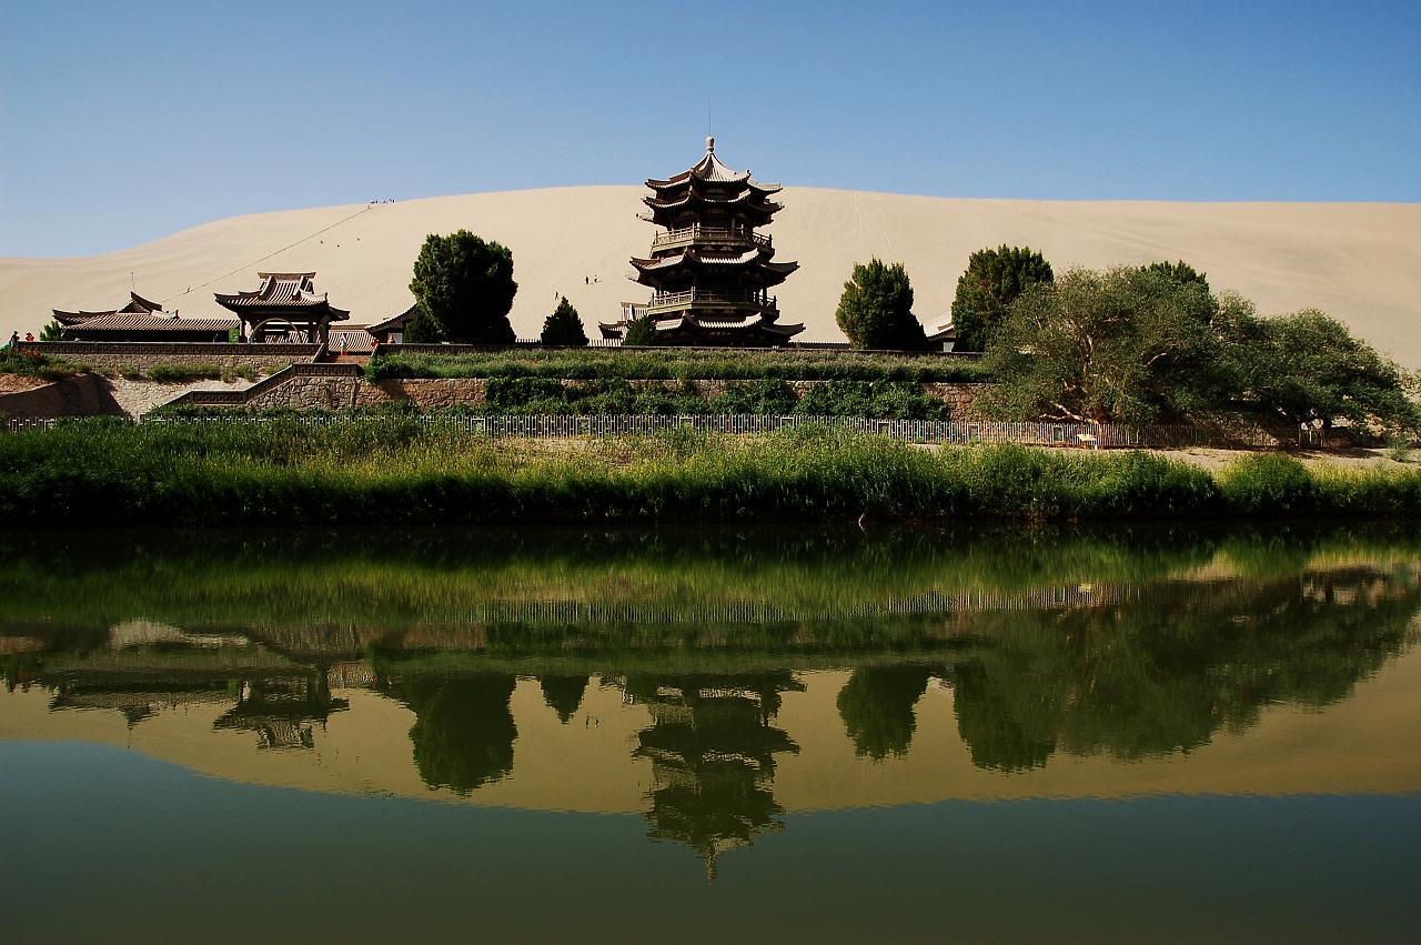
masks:
{"type": "Polygon", "coordinates": [[[799,746],[770,722],[780,693],[801,689],[789,672],[630,676],[627,699],[652,718],[632,752],[651,760],[648,836],[691,846],[713,878],[725,850],[783,830],[783,809],[772,793],[774,756],[799,753],[799,746]]]}

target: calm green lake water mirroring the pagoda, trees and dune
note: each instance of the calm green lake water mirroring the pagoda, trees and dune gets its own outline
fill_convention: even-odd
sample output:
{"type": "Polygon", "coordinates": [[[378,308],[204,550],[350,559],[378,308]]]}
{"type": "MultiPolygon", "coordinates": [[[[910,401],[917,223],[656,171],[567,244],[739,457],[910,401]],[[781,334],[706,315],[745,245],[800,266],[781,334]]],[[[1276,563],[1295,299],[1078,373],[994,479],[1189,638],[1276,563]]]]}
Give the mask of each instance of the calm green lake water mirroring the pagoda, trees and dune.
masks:
{"type": "Polygon", "coordinates": [[[1421,533],[0,534],[9,941],[1415,941],[1421,533]]]}

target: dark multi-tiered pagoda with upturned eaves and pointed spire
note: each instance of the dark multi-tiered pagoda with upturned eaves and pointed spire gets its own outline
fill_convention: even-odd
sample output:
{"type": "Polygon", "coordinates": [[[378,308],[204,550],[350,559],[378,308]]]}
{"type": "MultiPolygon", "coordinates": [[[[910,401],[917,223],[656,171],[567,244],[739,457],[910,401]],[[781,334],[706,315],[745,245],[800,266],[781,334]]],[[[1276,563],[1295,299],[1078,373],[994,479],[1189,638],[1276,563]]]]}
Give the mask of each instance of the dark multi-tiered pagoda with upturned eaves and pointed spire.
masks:
{"type": "MultiPolygon", "coordinates": [[[[637,281],[655,290],[647,304],[658,340],[665,344],[782,345],[804,325],[779,324],[780,310],[769,290],[799,269],[776,263],[769,225],[782,205],[770,200],[777,183],[760,183],[749,171],[732,171],[706,155],[689,171],[666,180],[647,180],[654,195],[644,220],[665,227],[651,244],[651,259],[634,259],[637,281]]],[[[620,338],[627,324],[603,324],[620,338]]]]}

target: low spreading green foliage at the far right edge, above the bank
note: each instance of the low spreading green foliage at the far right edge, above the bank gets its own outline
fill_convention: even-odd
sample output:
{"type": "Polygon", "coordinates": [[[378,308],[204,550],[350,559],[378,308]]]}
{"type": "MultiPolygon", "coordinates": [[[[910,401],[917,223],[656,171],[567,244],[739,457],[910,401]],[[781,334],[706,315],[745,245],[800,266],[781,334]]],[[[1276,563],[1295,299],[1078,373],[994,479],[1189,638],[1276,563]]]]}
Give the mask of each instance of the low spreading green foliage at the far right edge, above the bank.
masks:
{"type": "Polygon", "coordinates": [[[1324,429],[1339,419],[1421,429],[1405,374],[1316,308],[1276,318],[1243,308],[1222,317],[1219,330],[1231,388],[1242,404],[1324,429]]]}

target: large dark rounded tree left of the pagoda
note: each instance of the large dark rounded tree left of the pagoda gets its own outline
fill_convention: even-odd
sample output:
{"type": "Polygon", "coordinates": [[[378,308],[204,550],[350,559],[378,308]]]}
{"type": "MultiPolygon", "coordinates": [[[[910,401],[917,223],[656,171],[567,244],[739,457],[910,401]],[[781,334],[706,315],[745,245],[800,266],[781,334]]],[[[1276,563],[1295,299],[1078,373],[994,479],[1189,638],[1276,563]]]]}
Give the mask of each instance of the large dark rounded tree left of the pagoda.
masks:
{"type": "Polygon", "coordinates": [[[415,259],[409,291],[419,301],[426,324],[415,328],[421,341],[512,344],[509,310],[519,284],[513,281],[513,253],[485,242],[469,230],[449,236],[429,234],[415,259]],[[436,337],[425,337],[433,331],[436,337]]]}

